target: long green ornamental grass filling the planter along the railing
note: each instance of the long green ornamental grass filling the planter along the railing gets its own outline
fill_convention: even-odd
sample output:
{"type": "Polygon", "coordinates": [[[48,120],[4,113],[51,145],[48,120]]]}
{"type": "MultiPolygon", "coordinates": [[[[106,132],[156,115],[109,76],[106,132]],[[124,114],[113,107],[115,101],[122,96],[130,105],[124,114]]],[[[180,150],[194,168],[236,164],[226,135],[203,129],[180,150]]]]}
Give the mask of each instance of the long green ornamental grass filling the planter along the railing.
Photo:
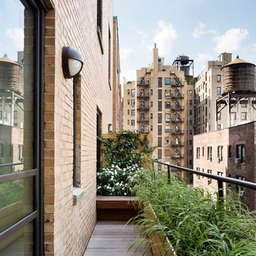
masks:
{"type": "Polygon", "coordinates": [[[168,183],[166,174],[149,170],[132,178],[132,183],[133,192],[142,203],[151,204],[157,217],[139,216],[144,235],[164,234],[176,255],[256,255],[255,213],[230,193],[219,202],[206,189],[186,186],[176,178],[168,183]]]}

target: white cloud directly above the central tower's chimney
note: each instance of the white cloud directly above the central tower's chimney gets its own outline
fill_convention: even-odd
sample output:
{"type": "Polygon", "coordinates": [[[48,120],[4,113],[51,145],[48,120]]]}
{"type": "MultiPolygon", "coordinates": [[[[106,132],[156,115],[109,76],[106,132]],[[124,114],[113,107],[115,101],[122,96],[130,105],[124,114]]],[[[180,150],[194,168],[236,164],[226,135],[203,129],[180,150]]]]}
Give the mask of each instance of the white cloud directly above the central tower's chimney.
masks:
{"type": "Polygon", "coordinates": [[[178,36],[171,23],[159,21],[158,27],[154,36],[154,43],[156,43],[157,48],[159,48],[160,55],[167,55],[171,53],[173,42],[178,36]]]}

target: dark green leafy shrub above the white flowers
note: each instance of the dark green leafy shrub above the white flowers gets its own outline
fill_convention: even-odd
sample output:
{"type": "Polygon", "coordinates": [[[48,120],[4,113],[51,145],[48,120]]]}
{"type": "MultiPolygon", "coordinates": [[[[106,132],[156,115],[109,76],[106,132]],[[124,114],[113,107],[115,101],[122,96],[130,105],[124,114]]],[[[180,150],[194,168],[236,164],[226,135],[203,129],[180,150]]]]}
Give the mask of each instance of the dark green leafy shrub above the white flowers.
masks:
{"type": "Polygon", "coordinates": [[[103,160],[107,163],[105,167],[111,167],[112,164],[120,168],[127,166],[142,166],[151,159],[154,147],[149,146],[149,139],[146,134],[139,137],[140,133],[122,130],[121,132],[112,132],[117,134],[117,139],[100,139],[105,147],[103,160]]]}

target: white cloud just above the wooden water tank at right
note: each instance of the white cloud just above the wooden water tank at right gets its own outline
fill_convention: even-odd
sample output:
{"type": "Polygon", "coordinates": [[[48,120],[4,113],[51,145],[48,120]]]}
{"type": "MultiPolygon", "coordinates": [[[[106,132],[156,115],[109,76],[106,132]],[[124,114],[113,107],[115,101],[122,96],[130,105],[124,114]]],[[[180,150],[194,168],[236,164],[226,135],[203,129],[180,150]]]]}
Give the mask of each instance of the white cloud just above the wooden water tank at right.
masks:
{"type": "Polygon", "coordinates": [[[243,39],[248,36],[247,29],[243,28],[231,28],[222,36],[216,36],[213,41],[217,43],[215,47],[215,52],[217,53],[224,53],[226,52],[233,52],[240,47],[240,43],[243,39]]]}

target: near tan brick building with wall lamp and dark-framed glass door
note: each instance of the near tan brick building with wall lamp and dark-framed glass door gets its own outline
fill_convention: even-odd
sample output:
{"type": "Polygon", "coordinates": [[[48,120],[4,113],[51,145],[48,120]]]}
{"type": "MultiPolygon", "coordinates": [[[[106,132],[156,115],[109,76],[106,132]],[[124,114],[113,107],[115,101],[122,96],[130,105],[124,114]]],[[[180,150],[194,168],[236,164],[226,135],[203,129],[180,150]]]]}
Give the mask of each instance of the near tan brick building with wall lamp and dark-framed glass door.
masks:
{"type": "Polygon", "coordinates": [[[4,30],[22,35],[14,46],[1,31],[0,255],[82,255],[97,217],[97,135],[122,120],[112,1],[10,0],[0,9],[4,30]],[[84,62],[72,79],[64,46],[84,62]]]}

